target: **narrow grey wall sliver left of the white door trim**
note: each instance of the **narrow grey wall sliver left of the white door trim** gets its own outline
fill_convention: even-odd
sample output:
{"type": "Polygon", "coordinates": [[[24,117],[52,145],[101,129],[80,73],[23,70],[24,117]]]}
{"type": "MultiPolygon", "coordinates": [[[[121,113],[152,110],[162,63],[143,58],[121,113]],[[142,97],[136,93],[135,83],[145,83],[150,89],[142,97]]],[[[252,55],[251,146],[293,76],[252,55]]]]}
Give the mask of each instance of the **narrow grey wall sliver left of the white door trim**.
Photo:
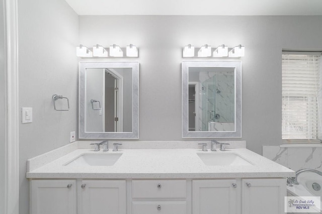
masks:
{"type": "MultiPolygon", "coordinates": [[[[5,26],[4,1],[0,0],[0,183],[5,183],[5,26]]],[[[0,185],[0,214],[5,213],[5,185],[0,185]]]]}

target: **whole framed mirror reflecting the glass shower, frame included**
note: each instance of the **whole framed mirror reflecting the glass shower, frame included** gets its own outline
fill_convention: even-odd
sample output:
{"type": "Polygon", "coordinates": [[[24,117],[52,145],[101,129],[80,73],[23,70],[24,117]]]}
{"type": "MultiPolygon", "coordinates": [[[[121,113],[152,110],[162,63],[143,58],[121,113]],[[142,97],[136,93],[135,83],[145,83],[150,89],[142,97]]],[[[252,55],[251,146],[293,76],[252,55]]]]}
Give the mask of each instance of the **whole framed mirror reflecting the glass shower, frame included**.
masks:
{"type": "Polygon", "coordinates": [[[241,62],[182,62],[182,137],[241,137],[241,62]]]}

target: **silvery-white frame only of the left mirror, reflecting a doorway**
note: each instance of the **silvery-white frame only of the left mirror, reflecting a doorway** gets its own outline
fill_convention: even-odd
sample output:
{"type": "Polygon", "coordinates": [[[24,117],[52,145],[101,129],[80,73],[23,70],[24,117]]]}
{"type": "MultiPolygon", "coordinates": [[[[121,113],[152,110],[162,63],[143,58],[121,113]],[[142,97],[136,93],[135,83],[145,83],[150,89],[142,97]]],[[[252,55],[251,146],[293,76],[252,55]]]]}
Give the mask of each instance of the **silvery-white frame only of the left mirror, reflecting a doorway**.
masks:
{"type": "Polygon", "coordinates": [[[79,118],[80,139],[138,139],[139,138],[139,63],[138,62],[79,62],[79,118]],[[132,132],[85,132],[86,125],[86,69],[132,68],[132,132]]]}

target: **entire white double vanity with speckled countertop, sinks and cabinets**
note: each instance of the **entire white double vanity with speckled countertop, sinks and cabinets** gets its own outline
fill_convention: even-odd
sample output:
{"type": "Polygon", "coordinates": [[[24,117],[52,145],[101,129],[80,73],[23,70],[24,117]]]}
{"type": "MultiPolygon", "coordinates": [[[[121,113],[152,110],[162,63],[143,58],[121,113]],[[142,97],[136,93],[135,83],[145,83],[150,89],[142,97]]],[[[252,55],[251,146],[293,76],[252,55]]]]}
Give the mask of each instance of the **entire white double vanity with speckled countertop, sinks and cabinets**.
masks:
{"type": "Polygon", "coordinates": [[[284,211],[285,178],[294,172],[246,149],[243,141],[230,142],[225,151],[203,151],[191,141],[137,142],[150,149],[124,141],[112,151],[113,143],[119,142],[94,151],[90,142],[79,141],[28,160],[30,213],[284,211]]]}

